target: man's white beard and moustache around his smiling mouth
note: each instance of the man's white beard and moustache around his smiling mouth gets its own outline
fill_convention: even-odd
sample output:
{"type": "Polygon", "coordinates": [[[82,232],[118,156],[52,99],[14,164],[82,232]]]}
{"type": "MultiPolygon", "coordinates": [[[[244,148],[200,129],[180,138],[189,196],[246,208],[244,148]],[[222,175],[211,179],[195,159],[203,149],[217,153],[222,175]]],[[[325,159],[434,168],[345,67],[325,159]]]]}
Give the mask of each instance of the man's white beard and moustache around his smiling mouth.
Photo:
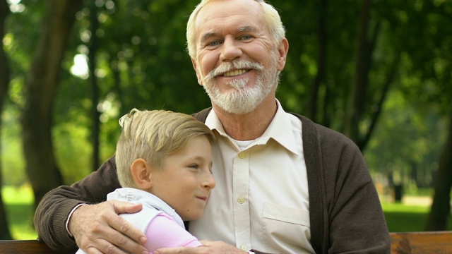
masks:
{"type": "Polygon", "coordinates": [[[210,71],[210,73],[203,78],[203,87],[213,104],[218,105],[221,109],[232,114],[249,113],[263,102],[274,86],[278,85],[279,74],[276,68],[277,58],[273,59],[275,59],[275,61],[272,61],[267,69],[264,69],[259,63],[244,60],[224,63],[213,71],[210,71]],[[234,87],[234,90],[221,92],[218,85],[215,84],[214,78],[219,73],[225,73],[232,68],[255,69],[258,71],[256,83],[246,86],[249,78],[237,78],[227,82],[227,85],[234,87]]]}

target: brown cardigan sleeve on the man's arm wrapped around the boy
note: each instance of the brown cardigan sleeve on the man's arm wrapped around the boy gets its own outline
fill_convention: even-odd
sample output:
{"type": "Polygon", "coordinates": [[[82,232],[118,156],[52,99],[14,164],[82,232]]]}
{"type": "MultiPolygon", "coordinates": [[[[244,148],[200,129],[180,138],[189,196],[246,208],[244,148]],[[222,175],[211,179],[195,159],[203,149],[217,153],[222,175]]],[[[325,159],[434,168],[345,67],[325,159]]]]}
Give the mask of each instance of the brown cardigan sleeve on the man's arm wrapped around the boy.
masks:
{"type": "Polygon", "coordinates": [[[60,186],[49,191],[35,212],[38,241],[44,241],[54,250],[76,250],[76,241],[66,231],[66,220],[73,207],[80,203],[98,203],[107,194],[120,188],[116,164],[111,157],[93,173],[71,186],[60,186]]]}

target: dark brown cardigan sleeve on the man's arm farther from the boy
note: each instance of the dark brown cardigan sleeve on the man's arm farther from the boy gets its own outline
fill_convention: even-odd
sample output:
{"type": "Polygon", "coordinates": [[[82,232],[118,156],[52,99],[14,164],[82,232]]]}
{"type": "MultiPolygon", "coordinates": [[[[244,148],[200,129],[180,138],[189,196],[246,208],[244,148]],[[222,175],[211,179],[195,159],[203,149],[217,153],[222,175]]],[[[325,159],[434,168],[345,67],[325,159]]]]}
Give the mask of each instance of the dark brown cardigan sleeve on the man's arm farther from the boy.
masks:
{"type": "Polygon", "coordinates": [[[323,226],[321,253],[390,253],[386,219],[362,152],[345,135],[314,126],[311,145],[316,147],[314,170],[321,174],[316,181],[321,197],[311,200],[310,187],[309,204],[311,212],[318,213],[311,205],[321,202],[323,215],[314,224],[323,226]]]}

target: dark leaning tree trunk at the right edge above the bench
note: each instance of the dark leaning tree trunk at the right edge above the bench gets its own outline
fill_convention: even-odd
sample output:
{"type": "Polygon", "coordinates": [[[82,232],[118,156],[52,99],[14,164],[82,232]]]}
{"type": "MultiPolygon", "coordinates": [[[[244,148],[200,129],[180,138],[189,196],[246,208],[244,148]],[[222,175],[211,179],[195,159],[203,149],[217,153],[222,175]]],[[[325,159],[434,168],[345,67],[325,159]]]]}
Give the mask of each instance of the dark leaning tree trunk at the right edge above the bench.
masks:
{"type": "Polygon", "coordinates": [[[447,220],[451,214],[451,186],[452,186],[452,110],[448,138],[439,159],[438,173],[434,184],[434,197],[430,210],[427,230],[442,231],[447,228],[447,220]]]}

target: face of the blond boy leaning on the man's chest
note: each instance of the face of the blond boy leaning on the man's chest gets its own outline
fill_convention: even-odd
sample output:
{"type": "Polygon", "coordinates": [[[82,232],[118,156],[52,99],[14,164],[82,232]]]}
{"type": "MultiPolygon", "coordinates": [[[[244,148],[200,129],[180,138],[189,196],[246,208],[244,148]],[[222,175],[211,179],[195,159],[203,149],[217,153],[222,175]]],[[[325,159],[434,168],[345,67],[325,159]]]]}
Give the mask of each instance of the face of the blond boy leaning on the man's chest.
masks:
{"type": "Polygon", "coordinates": [[[198,135],[166,159],[165,169],[153,171],[150,193],[167,202],[183,220],[198,219],[215,187],[211,169],[212,148],[205,135],[198,135]]]}

